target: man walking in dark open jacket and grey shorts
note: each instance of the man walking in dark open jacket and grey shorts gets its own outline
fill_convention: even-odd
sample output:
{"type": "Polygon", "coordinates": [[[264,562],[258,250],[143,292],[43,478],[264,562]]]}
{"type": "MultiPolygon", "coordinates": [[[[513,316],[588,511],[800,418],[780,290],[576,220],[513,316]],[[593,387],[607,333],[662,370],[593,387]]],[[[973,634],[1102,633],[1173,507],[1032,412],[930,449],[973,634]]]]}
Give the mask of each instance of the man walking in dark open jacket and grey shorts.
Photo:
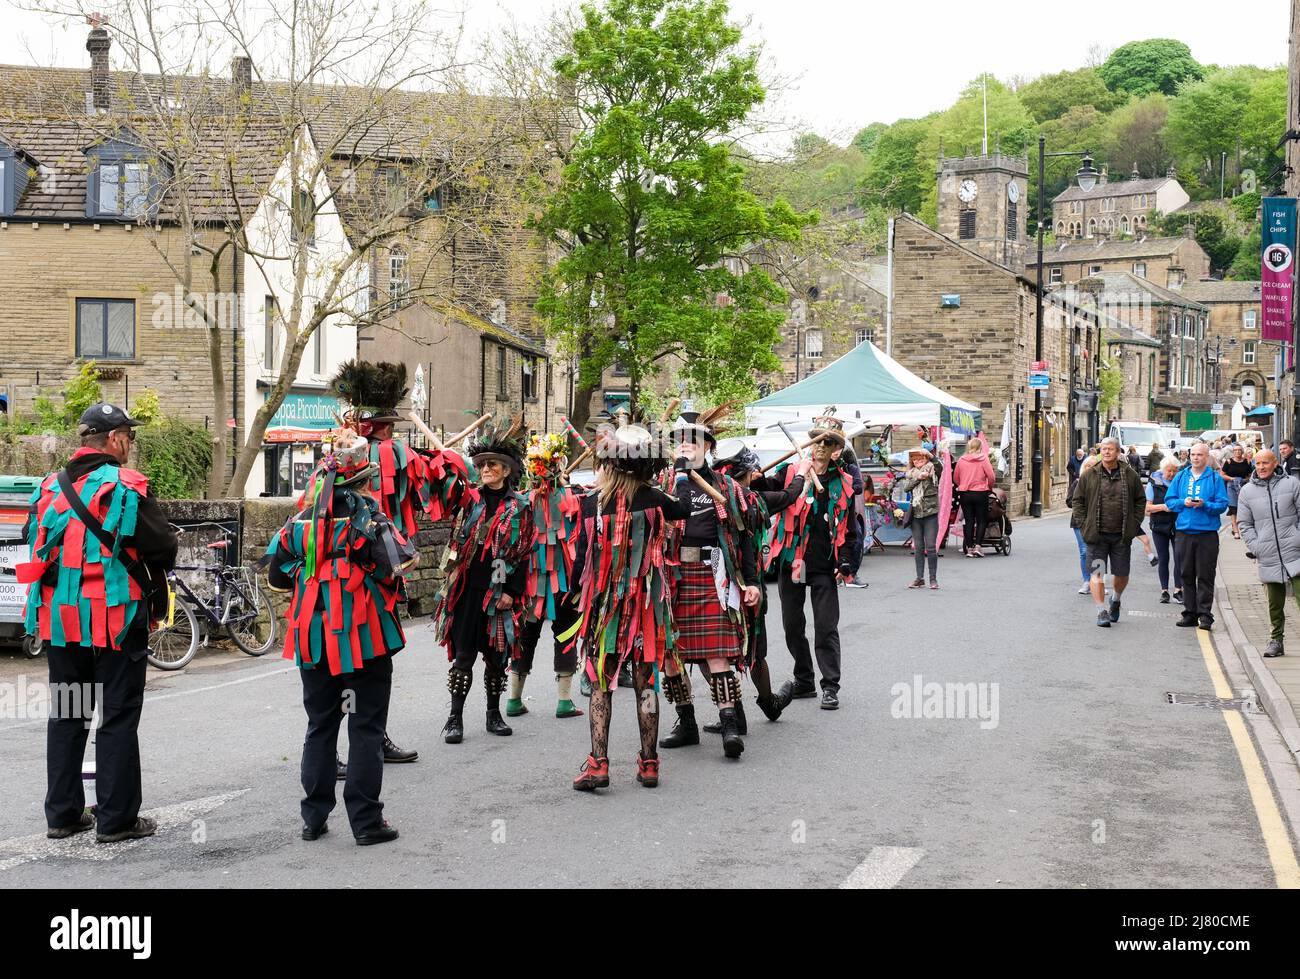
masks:
{"type": "Polygon", "coordinates": [[[1092,572],[1092,599],[1097,606],[1097,625],[1119,621],[1119,605],[1128,585],[1134,537],[1147,508],[1141,478],[1119,458],[1118,438],[1101,439],[1101,462],[1084,469],[1074,494],[1074,519],[1083,528],[1092,572]],[[1106,571],[1112,590],[1106,602],[1106,571]]]}

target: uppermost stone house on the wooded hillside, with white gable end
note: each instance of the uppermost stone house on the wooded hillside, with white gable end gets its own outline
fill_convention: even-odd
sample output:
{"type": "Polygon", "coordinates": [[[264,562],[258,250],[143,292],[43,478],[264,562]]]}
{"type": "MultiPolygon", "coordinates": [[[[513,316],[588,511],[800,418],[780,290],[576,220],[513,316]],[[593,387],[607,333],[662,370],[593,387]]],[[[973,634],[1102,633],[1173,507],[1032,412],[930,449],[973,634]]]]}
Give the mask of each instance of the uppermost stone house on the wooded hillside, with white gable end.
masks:
{"type": "Polygon", "coordinates": [[[1157,215],[1171,215],[1188,200],[1173,168],[1144,178],[1134,166],[1128,179],[1114,182],[1102,168],[1092,190],[1070,185],[1052,199],[1052,230],[1057,241],[1140,235],[1157,215]]]}

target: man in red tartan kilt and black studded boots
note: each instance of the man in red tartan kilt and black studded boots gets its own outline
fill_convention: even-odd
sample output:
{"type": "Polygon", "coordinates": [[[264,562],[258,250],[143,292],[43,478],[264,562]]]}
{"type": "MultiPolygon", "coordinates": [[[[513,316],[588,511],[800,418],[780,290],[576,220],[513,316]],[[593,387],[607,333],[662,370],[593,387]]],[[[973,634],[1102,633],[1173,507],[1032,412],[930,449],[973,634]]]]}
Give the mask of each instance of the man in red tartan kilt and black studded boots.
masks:
{"type": "MultiPolygon", "coordinates": [[[[745,523],[745,493],[707,463],[708,449],[716,443],[712,425],[725,410],[727,406],[720,406],[706,415],[682,412],[673,428],[675,493],[690,506],[690,514],[670,534],[668,560],[677,564],[672,605],[679,629],[675,660],[698,663],[707,672],[722,724],[723,753],[740,758],[745,741],[736,718],[740,680],[734,668],[745,668],[746,628],[741,606],[758,606],[759,590],[753,584],[758,580],[754,549],[746,540],[750,533],[745,523]],[[719,493],[723,502],[690,473],[719,493]]],[[[659,742],[660,748],[699,744],[690,688],[675,660],[664,664],[664,694],[677,707],[677,723],[659,742]]]]}

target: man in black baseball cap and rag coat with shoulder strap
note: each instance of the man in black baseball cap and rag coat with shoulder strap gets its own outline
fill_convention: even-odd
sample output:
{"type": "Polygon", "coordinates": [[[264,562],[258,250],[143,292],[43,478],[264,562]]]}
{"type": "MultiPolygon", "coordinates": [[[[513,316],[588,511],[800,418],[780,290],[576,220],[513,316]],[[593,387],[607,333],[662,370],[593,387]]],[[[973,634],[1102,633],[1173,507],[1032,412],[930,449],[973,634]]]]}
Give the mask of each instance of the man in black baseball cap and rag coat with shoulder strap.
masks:
{"type": "Polygon", "coordinates": [[[31,556],[18,566],[18,580],[31,585],[26,628],[46,645],[51,689],[82,694],[55,697],[47,728],[46,823],[55,840],[94,827],[99,842],[118,842],[156,828],[139,815],[136,732],[148,633],[166,614],[177,536],[148,480],[125,467],[139,424],[114,404],[86,410],[81,449],[32,495],[31,556]],[[92,818],[83,811],[82,761],[96,702],[92,818]]]}

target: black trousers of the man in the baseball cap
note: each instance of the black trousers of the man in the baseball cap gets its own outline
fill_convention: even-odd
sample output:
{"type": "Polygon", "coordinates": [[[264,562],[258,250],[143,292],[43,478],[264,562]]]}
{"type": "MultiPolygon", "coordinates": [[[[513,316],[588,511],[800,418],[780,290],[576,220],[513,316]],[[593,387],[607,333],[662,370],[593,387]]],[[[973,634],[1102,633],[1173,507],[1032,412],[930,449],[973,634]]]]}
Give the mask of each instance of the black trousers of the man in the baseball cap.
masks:
{"type": "Polygon", "coordinates": [[[46,824],[72,826],[86,807],[81,768],[96,702],[96,831],[117,833],[140,813],[140,709],[148,667],[143,633],[133,651],[46,645],[51,710],[46,725],[46,824]]]}

